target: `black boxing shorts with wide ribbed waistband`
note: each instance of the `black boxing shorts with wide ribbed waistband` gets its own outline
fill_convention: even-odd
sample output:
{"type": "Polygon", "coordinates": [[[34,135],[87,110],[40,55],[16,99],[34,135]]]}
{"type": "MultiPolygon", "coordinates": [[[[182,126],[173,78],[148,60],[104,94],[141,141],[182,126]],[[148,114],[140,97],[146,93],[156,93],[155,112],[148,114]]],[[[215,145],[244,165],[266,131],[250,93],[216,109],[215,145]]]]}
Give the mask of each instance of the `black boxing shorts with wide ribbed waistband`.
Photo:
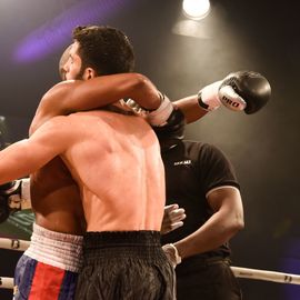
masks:
{"type": "Polygon", "coordinates": [[[160,232],[87,232],[76,299],[176,299],[174,271],[161,249],[160,232]]]}

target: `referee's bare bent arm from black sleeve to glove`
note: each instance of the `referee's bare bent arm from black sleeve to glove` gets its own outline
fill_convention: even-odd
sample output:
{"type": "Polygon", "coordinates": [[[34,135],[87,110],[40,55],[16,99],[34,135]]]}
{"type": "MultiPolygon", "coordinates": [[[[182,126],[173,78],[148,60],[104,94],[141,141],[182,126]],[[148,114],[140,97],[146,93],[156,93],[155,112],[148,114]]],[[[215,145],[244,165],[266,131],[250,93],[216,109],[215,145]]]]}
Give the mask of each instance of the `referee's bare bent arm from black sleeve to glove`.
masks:
{"type": "Polygon", "coordinates": [[[208,196],[212,217],[196,232],[174,243],[182,259],[217,249],[243,228],[243,208],[237,188],[220,188],[208,196]]]}

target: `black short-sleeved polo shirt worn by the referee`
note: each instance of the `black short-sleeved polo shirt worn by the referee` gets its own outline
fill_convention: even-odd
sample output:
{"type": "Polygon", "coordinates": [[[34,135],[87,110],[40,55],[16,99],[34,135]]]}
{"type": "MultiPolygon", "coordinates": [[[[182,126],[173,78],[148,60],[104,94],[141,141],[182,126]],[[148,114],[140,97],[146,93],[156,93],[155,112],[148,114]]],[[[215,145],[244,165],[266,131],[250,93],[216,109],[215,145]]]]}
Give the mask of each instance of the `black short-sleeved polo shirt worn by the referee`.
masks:
{"type": "MultiPolygon", "coordinates": [[[[198,230],[211,216],[206,194],[218,187],[232,186],[239,189],[234,170],[226,154],[212,144],[179,141],[173,148],[162,151],[166,169],[167,204],[178,203],[184,208],[183,227],[162,237],[162,244],[176,242],[198,230]]],[[[227,257],[228,244],[201,257],[227,257]]]]}

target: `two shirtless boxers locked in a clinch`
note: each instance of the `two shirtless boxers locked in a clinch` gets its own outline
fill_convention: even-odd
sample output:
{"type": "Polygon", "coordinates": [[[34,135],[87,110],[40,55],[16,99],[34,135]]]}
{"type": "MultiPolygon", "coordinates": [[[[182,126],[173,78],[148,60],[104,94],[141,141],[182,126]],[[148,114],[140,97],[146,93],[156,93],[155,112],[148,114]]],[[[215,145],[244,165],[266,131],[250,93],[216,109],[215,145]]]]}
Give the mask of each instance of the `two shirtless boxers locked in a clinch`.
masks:
{"type": "MultiPolygon", "coordinates": [[[[16,269],[14,298],[73,299],[80,270],[77,299],[173,299],[173,269],[159,232],[164,171],[146,120],[171,134],[180,121],[177,109],[146,77],[126,73],[133,69],[133,53],[121,31],[77,28],[73,39],[63,66],[67,81],[42,98],[30,138],[0,152],[0,183],[32,174],[36,224],[16,269]],[[111,43],[103,43],[108,38],[111,43]],[[129,98],[151,112],[140,118],[118,102],[129,98]],[[106,110],[87,111],[101,106],[106,110]]],[[[224,80],[190,103],[201,113],[198,101],[209,110],[220,103],[250,108],[256,92],[242,94],[236,84],[224,80]]],[[[186,101],[178,107],[188,113],[186,101]]]]}

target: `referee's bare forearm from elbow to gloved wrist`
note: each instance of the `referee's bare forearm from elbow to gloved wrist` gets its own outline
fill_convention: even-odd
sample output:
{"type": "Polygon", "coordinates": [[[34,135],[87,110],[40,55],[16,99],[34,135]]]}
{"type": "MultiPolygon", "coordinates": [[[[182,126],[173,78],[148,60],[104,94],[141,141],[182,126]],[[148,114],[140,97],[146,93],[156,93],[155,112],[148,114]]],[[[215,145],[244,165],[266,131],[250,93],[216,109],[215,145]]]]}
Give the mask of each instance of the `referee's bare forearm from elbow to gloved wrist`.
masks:
{"type": "Polygon", "coordinates": [[[216,212],[202,227],[174,243],[182,259],[211,251],[228,242],[243,228],[241,216],[216,212]]]}

